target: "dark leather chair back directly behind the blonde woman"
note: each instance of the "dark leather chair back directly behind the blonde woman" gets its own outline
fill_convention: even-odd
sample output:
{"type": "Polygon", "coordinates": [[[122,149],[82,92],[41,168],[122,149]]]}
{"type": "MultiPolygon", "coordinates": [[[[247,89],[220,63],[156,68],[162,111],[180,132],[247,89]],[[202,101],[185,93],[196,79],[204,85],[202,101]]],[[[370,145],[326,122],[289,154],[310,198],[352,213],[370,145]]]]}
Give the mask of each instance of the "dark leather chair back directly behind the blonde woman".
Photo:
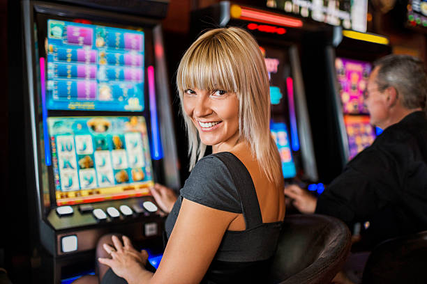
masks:
{"type": "Polygon", "coordinates": [[[319,214],[293,214],[283,223],[269,282],[330,283],[350,252],[350,230],[345,223],[319,214]]]}

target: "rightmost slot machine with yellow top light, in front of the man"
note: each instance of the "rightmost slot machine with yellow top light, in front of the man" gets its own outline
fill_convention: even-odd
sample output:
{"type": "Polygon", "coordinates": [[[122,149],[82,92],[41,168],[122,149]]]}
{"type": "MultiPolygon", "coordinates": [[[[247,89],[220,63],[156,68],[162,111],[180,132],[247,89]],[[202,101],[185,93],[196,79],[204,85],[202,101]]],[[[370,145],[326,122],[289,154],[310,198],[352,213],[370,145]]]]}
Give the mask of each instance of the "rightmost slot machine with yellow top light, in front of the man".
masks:
{"type": "Polygon", "coordinates": [[[329,183],[380,134],[369,123],[364,92],[373,61],[390,54],[391,48],[384,36],[339,26],[306,40],[303,66],[310,68],[304,69],[304,78],[313,94],[308,110],[319,175],[329,183]]]}

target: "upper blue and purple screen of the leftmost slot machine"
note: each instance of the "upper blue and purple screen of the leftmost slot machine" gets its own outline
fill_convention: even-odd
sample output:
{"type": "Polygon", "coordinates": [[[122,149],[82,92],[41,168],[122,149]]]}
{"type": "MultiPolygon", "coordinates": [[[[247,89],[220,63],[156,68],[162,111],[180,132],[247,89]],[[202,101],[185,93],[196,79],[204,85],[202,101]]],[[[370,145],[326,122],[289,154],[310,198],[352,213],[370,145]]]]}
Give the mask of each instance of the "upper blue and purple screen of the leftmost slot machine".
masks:
{"type": "Polygon", "coordinates": [[[142,111],[144,33],[47,21],[47,109],[142,111]]]}

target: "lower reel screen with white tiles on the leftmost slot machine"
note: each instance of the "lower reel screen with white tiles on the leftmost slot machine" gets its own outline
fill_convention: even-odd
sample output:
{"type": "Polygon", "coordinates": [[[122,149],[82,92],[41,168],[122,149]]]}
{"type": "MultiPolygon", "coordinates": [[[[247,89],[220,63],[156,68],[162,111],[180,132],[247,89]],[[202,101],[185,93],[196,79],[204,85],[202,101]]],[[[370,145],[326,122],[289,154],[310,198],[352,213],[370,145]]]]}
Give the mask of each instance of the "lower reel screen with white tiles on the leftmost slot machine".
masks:
{"type": "Polygon", "coordinates": [[[144,117],[51,117],[47,123],[58,206],[149,195],[144,117]]]}

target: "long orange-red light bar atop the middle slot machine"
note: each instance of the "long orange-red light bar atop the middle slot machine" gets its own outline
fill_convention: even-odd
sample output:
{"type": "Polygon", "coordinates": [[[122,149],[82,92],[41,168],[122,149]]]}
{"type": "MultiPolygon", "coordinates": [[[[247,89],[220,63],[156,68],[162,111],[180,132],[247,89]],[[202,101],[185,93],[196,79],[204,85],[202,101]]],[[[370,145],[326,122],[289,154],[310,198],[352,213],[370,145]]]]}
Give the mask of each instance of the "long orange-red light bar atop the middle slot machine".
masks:
{"type": "Polygon", "coordinates": [[[303,26],[303,22],[299,19],[247,7],[241,7],[239,19],[262,22],[264,24],[276,24],[278,26],[290,26],[293,28],[301,28],[303,26]]]}

